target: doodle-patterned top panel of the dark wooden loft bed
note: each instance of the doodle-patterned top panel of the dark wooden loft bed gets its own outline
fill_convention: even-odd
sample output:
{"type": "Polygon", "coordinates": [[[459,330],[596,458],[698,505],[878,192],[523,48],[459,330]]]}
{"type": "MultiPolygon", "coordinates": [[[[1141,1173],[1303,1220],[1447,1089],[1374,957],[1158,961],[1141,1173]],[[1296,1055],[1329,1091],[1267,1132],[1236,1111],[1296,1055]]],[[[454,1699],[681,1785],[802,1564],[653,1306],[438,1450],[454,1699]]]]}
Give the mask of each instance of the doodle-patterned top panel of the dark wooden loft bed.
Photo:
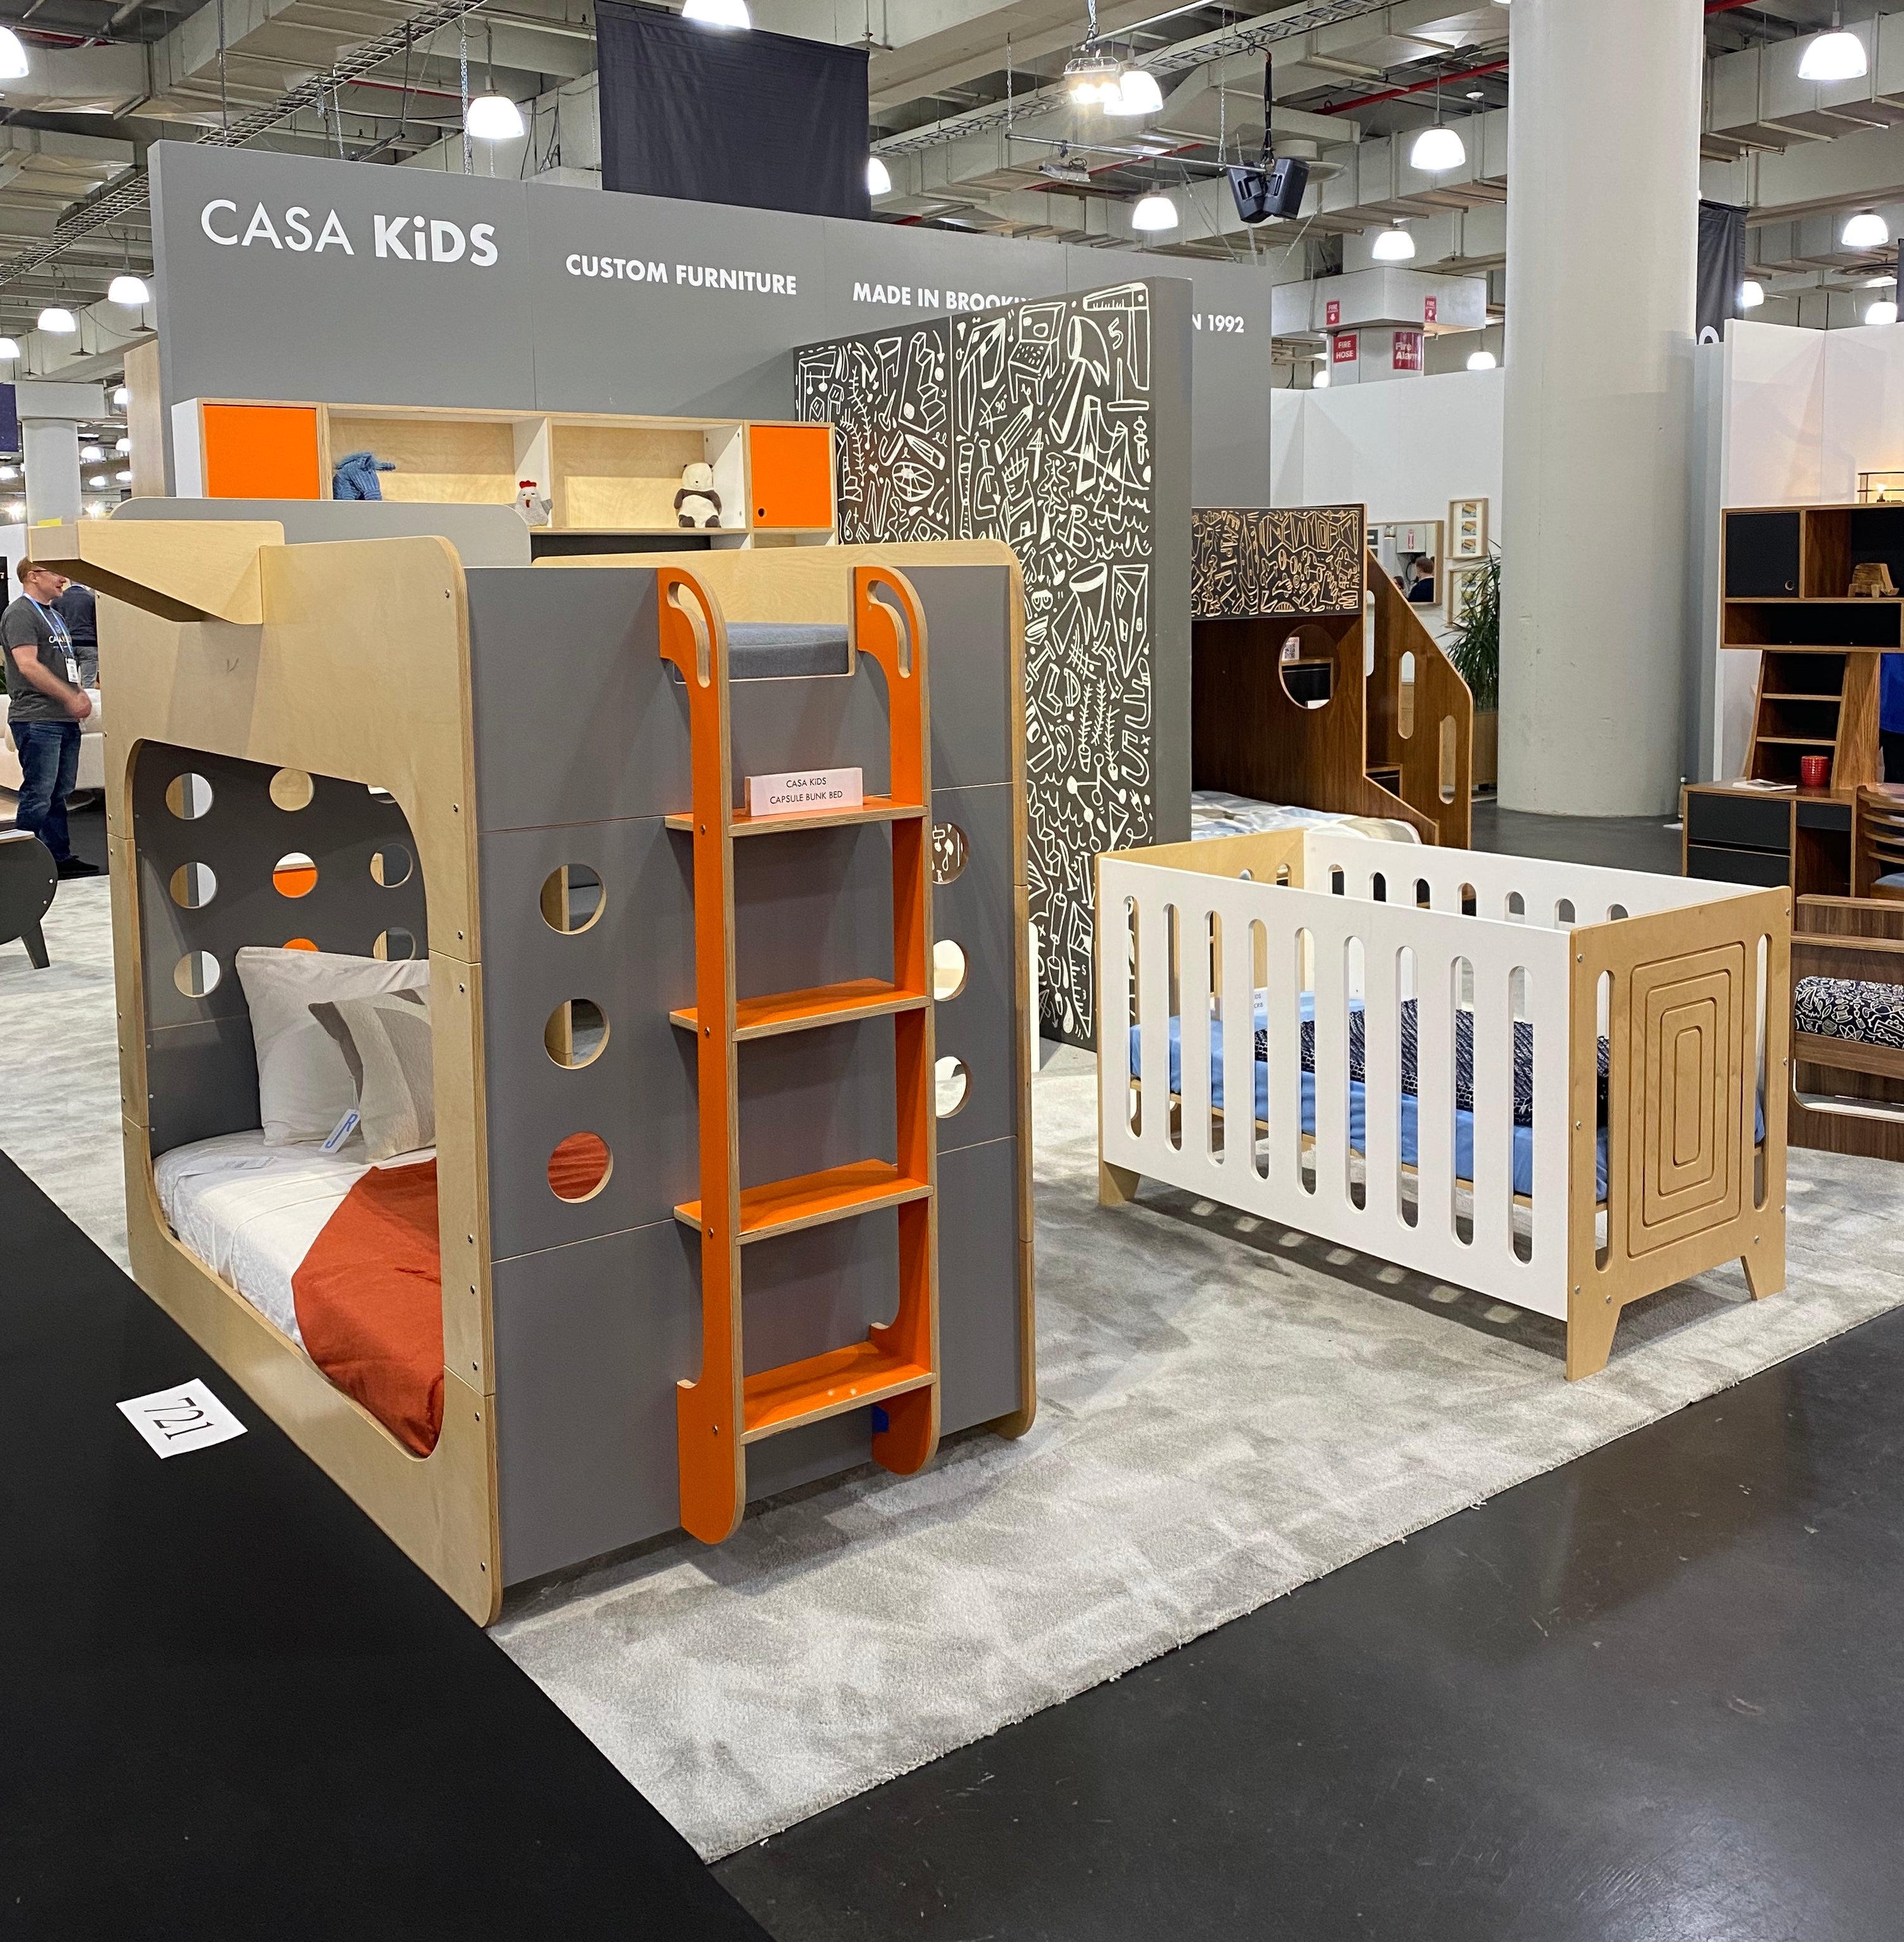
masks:
{"type": "Polygon", "coordinates": [[[1190,515],[1190,612],[1361,614],[1364,509],[1199,507],[1190,515]]]}

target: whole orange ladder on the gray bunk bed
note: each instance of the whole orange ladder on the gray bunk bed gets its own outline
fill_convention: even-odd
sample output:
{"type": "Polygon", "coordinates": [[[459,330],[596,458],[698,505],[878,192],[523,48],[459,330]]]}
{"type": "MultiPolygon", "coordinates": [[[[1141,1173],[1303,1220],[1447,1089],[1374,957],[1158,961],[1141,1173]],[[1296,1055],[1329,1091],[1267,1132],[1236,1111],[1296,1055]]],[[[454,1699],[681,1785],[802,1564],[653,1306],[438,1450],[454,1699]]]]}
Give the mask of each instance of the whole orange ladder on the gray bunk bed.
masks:
{"type": "Polygon", "coordinates": [[[675,1394],[681,1524],[706,1544],[732,1536],[747,1505],[745,1447],[782,1429],[877,1404],[873,1460],[901,1476],[939,1447],[937,1128],[932,1049],[932,777],[926,621],[906,579],[852,569],[848,670],[885,670],[891,796],[858,810],[749,816],[734,808],[728,629],[714,596],[681,567],[656,569],[662,658],[687,682],[693,810],[670,829],[695,841],[695,1004],[673,1023],[695,1035],[701,1082],[701,1198],[673,1210],[701,1231],[701,1375],[675,1394]],[[901,625],[903,623],[903,625],[901,625]],[[736,996],[734,845],[790,829],[891,823],[893,979],[736,996]],[[899,1095],[893,1161],[741,1187],[739,1047],[784,1031],[891,1018],[899,1095]],[[741,1253],[753,1241],[877,1208],[899,1210],[899,1309],[864,1342],[745,1375],[741,1253]]]}

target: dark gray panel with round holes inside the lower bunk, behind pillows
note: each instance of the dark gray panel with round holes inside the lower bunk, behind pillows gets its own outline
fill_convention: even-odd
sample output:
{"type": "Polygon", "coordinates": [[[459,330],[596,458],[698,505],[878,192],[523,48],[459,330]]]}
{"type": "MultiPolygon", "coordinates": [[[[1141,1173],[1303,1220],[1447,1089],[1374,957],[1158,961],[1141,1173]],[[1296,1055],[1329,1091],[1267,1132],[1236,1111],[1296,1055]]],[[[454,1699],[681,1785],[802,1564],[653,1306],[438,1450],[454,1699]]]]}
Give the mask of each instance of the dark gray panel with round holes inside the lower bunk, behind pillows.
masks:
{"type": "Polygon", "coordinates": [[[301,800],[303,787],[287,787],[295,771],[268,763],[165,742],[138,755],[132,835],[155,1155],[258,1124],[250,1012],[233,969],[239,946],[307,938],[322,952],[367,957],[388,938],[390,955],[429,952],[423,874],[396,802],[361,783],[312,777],[305,806],[281,808],[278,775],[287,779],[278,796],[301,800]],[[386,868],[373,872],[375,858],[386,868]],[[285,895],[279,884],[301,893],[285,895]]]}

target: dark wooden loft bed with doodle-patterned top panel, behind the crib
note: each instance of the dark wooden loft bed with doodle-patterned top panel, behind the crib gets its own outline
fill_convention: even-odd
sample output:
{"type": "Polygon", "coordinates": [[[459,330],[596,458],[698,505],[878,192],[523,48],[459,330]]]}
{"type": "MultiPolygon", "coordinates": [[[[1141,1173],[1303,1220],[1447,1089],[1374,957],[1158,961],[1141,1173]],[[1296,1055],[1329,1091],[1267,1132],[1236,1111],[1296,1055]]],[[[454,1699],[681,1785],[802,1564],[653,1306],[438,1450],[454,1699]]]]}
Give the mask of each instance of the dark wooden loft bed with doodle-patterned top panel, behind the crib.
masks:
{"type": "Polygon", "coordinates": [[[1364,538],[1362,507],[1194,515],[1190,773],[1465,849],[1473,697],[1364,538]]]}

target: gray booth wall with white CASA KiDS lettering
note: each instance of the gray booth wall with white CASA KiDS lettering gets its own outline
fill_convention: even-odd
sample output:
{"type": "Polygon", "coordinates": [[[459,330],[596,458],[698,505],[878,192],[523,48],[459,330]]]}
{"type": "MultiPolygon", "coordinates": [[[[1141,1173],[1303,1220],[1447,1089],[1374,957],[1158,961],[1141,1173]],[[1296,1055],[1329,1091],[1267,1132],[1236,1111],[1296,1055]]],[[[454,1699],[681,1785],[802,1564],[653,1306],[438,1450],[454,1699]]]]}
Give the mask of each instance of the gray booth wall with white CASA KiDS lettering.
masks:
{"type": "MultiPolygon", "coordinates": [[[[151,214],[167,425],[182,398],[792,418],[800,344],[1161,264],[186,142],[151,146],[151,214]]],[[[1196,499],[1267,505],[1269,274],[1168,274],[1190,285],[1196,499]]]]}

